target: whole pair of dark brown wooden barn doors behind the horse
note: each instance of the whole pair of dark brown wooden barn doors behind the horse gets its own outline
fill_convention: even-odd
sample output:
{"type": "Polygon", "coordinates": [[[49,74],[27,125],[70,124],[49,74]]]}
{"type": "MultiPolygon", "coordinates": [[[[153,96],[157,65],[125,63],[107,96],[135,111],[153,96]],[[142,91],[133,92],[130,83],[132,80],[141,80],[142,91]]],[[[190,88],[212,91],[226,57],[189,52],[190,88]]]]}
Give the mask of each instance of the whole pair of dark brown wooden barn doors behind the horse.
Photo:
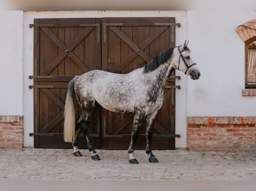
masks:
{"type": "MultiPolygon", "coordinates": [[[[76,75],[98,69],[126,74],[175,46],[175,18],[73,18],[34,20],[34,147],[72,148],[63,141],[66,88],[76,75]],[[158,23],[158,24],[157,24],[158,23]]],[[[170,78],[169,86],[175,85],[170,78]]],[[[175,89],[166,88],[154,123],[154,135],[175,133],[175,89]]],[[[77,117],[81,110],[76,105],[77,117]]],[[[133,114],[99,107],[90,134],[95,148],[127,149],[133,114]]],[[[143,123],[135,149],[144,149],[143,123]]],[[[82,131],[79,148],[87,148],[82,131]]],[[[152,149],[175,149],[174,137],[155,137],[152,149]]]]}

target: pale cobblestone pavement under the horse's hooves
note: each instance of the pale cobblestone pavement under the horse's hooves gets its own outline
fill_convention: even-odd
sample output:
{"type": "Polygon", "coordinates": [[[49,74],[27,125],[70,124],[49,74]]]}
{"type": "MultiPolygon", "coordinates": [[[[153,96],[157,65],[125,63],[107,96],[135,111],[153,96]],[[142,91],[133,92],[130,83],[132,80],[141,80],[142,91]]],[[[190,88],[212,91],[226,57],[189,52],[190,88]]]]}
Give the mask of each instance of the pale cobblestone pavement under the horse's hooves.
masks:
{"type": "Polygon", "coordinates": [[[75,157],[73,149],[0,148],[0,180],[255,180],[256,151],[154,150],[150,163],[135,150],[139,164],[128,162],[126,150],[88,150],[75,157]]]}

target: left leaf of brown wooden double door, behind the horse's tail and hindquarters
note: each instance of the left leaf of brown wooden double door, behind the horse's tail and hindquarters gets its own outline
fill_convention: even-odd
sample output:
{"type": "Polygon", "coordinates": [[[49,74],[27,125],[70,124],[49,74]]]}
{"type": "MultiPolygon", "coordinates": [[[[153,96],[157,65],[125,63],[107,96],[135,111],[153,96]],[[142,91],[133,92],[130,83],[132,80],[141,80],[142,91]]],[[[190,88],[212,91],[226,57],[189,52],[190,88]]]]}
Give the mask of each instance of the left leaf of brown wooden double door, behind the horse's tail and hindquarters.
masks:
{"type": "MultiPolygon", "coordinates": [[[[63,141],[66,89],[74,76],[101,70],[101,18],[34,19],[34,147],[72,148],[63,141]]],[[[76,105],[76,115],[81,111],[76,105]]],[[[101,108],[92,115],[90,134],[101,148],[101,108]]],[[[81,131],[79,148],[87,148],[81,131]]]]}

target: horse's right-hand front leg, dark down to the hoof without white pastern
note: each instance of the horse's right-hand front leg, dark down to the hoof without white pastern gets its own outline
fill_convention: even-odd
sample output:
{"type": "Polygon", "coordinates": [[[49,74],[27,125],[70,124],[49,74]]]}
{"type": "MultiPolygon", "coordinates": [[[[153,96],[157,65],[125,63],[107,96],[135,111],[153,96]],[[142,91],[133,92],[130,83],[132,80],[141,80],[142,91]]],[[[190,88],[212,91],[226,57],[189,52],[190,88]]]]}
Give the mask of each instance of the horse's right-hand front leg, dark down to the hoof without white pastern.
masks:
{"type": "Polygon", "coordinates": [[[147,147],[146,147],[146,153],[149,155],[148,160],[153,163],[157,163],[158,160],[153,155],[151,150],[151,139],[152,139],[152,133],[153,133],[153,125],[155,121],[155,116],[157,114],[157,111],[154,113],[150,113],[146,116],[146,123],[147,123],[147,147]]]}

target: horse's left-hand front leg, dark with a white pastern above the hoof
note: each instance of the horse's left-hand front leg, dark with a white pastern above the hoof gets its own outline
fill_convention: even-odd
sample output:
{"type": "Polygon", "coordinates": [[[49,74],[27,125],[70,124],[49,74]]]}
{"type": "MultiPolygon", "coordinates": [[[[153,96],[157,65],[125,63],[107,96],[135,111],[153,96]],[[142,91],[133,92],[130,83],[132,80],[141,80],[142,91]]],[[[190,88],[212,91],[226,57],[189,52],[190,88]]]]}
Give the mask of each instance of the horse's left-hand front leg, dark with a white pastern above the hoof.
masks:
{"type": "Polygon", "coordinates": [[[134,119],[133,119],[133,127],[132,127],[132,138],[130,142],[130,146],[128,148],[128,153],[130,155],[129,162],[131,164],[138,164],[139,162],[136,160],[133,152],[134,152],[134,144],[135,141],[139,135],[139,130],[142,122],[145,119],[145,112],[144,111],[139,111],[134,113],[134,119]]]}

